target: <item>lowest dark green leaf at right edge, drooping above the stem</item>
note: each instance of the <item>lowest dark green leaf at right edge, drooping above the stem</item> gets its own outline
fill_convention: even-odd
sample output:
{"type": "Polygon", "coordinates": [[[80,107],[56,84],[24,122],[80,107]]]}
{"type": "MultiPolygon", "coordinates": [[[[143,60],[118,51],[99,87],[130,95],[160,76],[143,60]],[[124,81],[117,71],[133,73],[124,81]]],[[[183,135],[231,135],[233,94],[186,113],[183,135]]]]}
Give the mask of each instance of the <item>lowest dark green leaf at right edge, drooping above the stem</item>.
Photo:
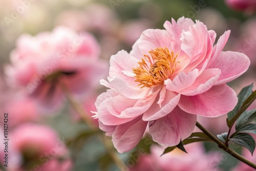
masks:
{"type": "Polygon", "coordinates": [[[250,151],[251,155],[253,154],[255,149],[255,140],[251,135],[238,134],[238,135],[235,135],[233,138],[229,138],[229,140],[233,141],[238,145],[242,145],[246,147],[250,151]]]}

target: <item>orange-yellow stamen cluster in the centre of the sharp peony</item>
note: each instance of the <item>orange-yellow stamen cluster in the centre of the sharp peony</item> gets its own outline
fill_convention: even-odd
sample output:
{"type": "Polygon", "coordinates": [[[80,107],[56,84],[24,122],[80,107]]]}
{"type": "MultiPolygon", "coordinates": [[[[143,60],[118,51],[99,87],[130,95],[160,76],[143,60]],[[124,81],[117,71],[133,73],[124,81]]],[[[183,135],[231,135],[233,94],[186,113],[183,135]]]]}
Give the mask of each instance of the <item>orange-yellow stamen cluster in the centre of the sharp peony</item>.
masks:
{"type": "Polygon", "coordinates": [[[156,87],[158,84],[164,82],[171,76],[178,62],[176,58],[178,53],[167,48],[156,48],[149,51],[150,56],[144,55],[144,58],[139,61],[139,67],[133,68],[135,74],[135,81],[140,82],[138,86],[143,87],[156,87]],[[148,66],[150,65],[150,66],[148,66]]]}

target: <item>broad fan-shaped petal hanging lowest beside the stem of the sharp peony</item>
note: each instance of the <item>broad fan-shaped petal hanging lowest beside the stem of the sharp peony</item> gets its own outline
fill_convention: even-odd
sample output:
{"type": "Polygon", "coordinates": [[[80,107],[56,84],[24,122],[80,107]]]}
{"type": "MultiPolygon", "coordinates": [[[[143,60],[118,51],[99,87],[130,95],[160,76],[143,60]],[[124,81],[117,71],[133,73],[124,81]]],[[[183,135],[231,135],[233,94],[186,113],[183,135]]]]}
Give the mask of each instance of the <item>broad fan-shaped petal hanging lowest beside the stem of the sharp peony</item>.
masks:
{"type": "Polygon", "coordinates": [[[174,146],[189,137],[196,126],[197,116],[182,111],[178,106],[168,115],[150,121],[150,134],[162,146],[174,146]]]}

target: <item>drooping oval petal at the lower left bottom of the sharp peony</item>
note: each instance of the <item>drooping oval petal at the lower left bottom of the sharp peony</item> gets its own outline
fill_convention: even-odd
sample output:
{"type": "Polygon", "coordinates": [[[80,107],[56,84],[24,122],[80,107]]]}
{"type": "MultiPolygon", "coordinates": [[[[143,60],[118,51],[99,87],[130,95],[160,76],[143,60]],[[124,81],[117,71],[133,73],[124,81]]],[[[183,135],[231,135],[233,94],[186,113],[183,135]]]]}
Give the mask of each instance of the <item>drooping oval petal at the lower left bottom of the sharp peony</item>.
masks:
{"type": "Polygon", "coordinates": [[[141,140],[148,122],[141,116],[124,124],[117,125],[112,135],[112,141],[119,153],[128,152],[141,140]]]}

